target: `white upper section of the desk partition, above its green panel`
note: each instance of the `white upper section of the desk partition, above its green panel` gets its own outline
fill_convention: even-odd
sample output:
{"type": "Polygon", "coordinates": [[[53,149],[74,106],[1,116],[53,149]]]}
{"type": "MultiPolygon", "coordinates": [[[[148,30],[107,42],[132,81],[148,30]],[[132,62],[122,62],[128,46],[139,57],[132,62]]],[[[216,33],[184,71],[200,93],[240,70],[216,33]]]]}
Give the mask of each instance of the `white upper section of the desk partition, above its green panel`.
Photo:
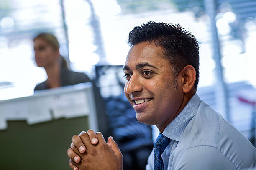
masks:
{"type": "Polygon", "coordinates": [[[89,128],[99,130],[95,98],[90,82],[38,90],[34,95],[0,100],[0,130],[7,120],[26,120],[29,125],[59,118],[88,116],[89,128]]]}

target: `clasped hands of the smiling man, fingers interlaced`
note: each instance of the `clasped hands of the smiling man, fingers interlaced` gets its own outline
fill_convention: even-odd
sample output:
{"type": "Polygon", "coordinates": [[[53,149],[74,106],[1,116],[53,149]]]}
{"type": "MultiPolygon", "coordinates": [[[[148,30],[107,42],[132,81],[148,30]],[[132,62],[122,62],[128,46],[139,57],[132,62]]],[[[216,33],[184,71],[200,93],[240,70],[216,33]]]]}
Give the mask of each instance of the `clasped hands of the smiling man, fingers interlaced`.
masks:
{"type": "Polygon", "coordinates": [[[123,170],[123,155],[113,137],[106,143],[102,133],[88,130],[72,137],[67,150],[72,170],[123,170]]]}

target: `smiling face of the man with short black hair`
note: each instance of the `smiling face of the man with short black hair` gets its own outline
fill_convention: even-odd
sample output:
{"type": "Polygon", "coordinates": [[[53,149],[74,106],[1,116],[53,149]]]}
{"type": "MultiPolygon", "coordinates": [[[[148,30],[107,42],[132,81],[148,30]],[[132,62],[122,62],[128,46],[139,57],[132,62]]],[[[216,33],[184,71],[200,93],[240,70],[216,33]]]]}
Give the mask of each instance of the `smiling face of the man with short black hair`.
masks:
{"type": "Polygon", "coordinates": [[[172,66],[161,57],[162,52],[154,43],[133,45],[124,66],[125,95],[136,111],[137,120],[147,125],[164,125],[183,100],[179,76],[175,88],[172,66]]]}

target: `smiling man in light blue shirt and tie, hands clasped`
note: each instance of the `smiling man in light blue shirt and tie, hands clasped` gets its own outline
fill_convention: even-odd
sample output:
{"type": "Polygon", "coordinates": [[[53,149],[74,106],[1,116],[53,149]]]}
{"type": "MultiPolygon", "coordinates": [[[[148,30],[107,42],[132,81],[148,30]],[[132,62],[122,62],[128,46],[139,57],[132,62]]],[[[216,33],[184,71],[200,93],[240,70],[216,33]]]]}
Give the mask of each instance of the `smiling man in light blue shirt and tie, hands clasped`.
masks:
{"type": "MultiPolygon", "coordinates": [[[[139,122],[159,136],[146,170],[241,170],[254,167],[256,149],[196,94],[198,43],[180,25],[149,22],[129,34],[125,95],[139,122]]],[[[120,170],[113,138],[89,130],[67,150],[73,170],[120,170]]]]}

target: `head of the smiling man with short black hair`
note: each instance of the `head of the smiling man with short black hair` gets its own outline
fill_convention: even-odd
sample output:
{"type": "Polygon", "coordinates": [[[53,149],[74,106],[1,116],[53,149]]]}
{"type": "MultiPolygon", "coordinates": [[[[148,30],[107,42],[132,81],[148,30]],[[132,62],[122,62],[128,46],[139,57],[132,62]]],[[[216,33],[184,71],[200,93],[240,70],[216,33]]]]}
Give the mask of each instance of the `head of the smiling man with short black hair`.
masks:
{"type": "Polygon", "coordinates": [[[125,95],[139,122],[168,123],[188,102],[184,96],[195,94],[199,78],[197,40],[180,25],[148,22],[130,32],[129,43],[125,95]],[[144,103],[135,103],[141,99],[144,103]]]}

